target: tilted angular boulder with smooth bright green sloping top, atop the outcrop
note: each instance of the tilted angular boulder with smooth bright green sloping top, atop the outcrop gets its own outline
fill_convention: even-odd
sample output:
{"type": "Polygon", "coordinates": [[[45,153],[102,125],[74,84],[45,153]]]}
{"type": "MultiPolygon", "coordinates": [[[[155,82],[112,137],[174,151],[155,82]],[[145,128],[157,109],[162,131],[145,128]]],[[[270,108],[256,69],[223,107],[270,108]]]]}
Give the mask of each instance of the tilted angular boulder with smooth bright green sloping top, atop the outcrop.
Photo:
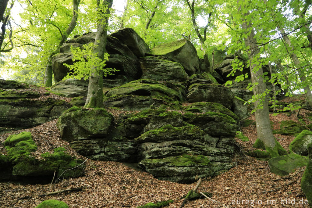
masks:
{"type": "Polygon", "coordinates": [[[151,49],[151,54],[180,63],[189,76],[199,71],[197,51],[188,39],[160,44],[151,49]]]}

